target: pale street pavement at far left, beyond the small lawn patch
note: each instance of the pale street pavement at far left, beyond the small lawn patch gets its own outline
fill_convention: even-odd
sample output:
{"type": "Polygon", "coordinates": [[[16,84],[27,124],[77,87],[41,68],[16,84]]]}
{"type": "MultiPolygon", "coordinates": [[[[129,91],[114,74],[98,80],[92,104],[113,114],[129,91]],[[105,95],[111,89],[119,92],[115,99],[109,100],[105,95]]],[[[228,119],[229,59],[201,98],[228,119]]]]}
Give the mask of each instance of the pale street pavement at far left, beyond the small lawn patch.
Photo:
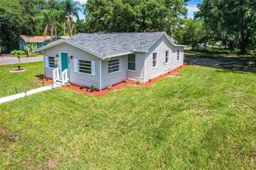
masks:
{"type": "MultiPolygon", "coordinates": [[[[31,62],[41,62],[41,61],[43,61],[43,56],[20,58],[20,63],[31,63],[31,62]]],[[[17,63],[19,63],[19,59],[17,57],[13,57],[10,55],[0,55],[0,65],[17,64],[17,63]]]]}

